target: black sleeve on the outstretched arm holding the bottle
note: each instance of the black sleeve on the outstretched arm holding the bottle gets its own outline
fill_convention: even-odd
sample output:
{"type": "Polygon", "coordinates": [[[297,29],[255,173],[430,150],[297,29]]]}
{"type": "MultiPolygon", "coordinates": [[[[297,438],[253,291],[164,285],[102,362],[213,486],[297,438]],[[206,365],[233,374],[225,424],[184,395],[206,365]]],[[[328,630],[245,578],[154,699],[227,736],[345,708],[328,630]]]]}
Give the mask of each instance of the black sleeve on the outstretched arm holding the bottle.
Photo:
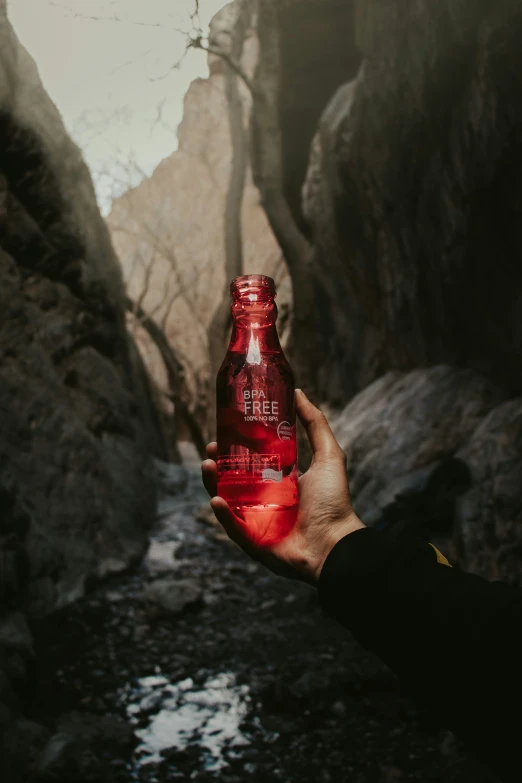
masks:
{"type": "Polygon", "coordinates": [[[319,600],[441,728],[522,780],[522,590],[448,567],[424,541],[363,529],[329,554],[319,600]]]}

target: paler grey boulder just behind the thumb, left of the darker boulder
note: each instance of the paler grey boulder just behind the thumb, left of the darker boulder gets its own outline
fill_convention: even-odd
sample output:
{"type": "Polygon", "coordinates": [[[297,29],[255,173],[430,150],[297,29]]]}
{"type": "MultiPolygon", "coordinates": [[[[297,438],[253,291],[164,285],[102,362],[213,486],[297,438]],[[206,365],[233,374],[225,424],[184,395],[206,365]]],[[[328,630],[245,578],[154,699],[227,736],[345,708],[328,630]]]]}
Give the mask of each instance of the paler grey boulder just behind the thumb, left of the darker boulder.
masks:
{"type": "Polygon", "coordinates": [[[332,427],[359,516],[373,525],[411,513],[450,528],[451,520],[437,522],[449,512],[446,493],[469,483],[455,455],[503,399],[471,370],[443,365],[387,373],[358,394],[332,427]]]}

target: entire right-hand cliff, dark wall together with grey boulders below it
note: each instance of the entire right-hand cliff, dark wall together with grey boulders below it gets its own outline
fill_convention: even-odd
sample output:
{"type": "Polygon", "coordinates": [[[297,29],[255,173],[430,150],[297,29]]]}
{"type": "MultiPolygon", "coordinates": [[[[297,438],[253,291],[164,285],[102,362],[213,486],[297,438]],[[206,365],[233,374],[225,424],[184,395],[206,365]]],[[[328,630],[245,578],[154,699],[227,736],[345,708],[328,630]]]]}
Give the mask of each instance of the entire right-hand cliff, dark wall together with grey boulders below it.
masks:
{"type": "Polygon", "coordinates": [[[335,425],[356,508],[520,582],[520,4],[373,0],[345,23],[360,66],[302,212],[335,313],[324,396],[364,389],[335,425]]]}

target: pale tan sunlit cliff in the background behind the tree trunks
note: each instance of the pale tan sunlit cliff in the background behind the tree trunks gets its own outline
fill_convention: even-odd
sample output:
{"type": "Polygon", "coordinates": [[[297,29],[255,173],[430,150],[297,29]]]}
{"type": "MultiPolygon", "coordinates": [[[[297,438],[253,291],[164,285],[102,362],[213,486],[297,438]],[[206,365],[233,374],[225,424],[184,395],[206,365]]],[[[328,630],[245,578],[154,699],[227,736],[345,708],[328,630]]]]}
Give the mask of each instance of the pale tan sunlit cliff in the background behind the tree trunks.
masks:
{"type": "MultiPolygon", "coordinates": [[[[231,3],[213,19],[214,42],[228,41],[236,12],[231,3]]],[[[257,48],[250,30],[242,57],[249,73],[257,48]]],[[[225,286],[225,210],[232,169],[223,61],[210,55],[209,70],[209,78],[195,80],[185,96],[177,150],[149,179],[116,199],[108,218],[130,295],[162,324],[184,365],[193,407],[203,419],[209,389],[207,332],[225,286]]],[[[246,128],[250,95],[244,85],[240,95],[246,128]]],[[[244,273],[276,278],[284,320],[291,298],[288,275],[249,171],[241,225],[244,273]]],[[[140,330],[137,335],[151,375],[168,391],[161,358],[146,335],[140,330]]]]}

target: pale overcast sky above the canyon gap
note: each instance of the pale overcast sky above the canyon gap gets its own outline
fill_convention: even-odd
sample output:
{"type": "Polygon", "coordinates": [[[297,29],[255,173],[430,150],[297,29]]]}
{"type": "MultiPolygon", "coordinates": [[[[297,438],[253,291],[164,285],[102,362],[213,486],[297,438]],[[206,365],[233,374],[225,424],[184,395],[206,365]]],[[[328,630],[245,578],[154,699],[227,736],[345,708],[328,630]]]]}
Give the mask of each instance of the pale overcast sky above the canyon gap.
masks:
{"type": "MultiPolygon", "coordinates": [[[[226,0],[200,0],[206,30],[226,0]]],[[[185,52],[194,0],[8,0],[16,33],[84,152],[104,214],[177,146],[190,82],[206,55],[185,52]],[[89,18],[95,17],[95,18],[89,18]]]]}

